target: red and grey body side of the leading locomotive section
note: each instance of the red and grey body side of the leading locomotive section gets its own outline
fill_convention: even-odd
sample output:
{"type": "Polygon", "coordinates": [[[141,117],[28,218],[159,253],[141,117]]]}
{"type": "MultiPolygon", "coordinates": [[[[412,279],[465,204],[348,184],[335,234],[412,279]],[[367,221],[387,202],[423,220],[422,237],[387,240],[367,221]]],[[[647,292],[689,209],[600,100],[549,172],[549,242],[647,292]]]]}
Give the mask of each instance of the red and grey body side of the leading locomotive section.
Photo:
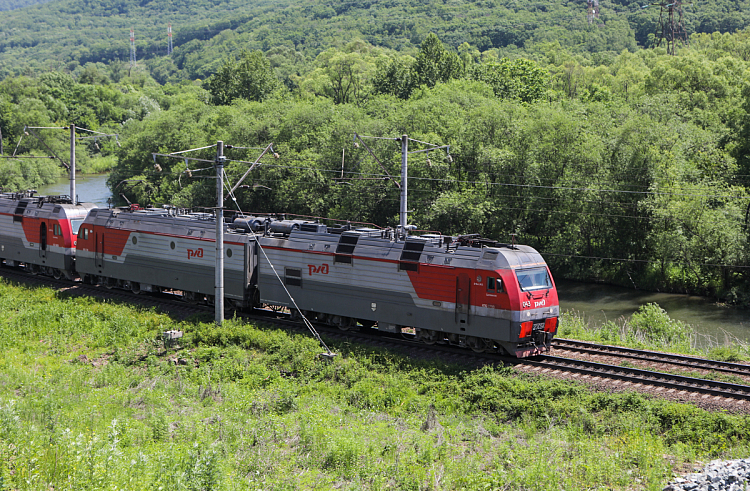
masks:
{"type": "MultiPolygon", "coordinates": [[[[549,299],[549,305],[555,304],[552,308],[521,311],[514,269],[539,263],[541,256],[530,248],[484,260],[480,249],[447,251],[427,245],[418,265],[405,271],[399,260],[403,242],[362,237],[347,262],[337,262],[335,235],[293,232],[288,239],[260,241],[301,310],[478,336],[508,345],[521,339],[522,321],[558,313],[556,294],[549,299]],[[487,275],[506,285],[491,294],[492,303],[487,300],[487,275]],[[519,307],[514,309],[514,303],[519,307]]],[[[263,257],[258,286],[261,302],[292,307],[263,257]]]]}

